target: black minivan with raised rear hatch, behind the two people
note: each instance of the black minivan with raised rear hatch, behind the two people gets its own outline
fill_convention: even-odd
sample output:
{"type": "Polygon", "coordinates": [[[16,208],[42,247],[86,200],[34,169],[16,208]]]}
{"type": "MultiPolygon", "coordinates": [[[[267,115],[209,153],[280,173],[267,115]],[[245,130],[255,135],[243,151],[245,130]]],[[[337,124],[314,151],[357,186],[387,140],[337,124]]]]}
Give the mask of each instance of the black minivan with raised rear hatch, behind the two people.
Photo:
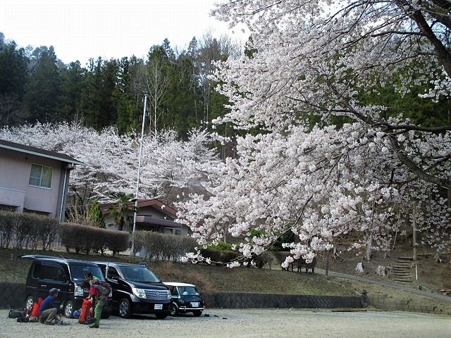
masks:
{"type": "MultiPolygon", "coordinates": [[[[60,289],[56,302],[62,306],[63,315],[73,318],[73,312],[82,307],[87,296],[80,283],[85,280],[85,273],[104,280],[98,265],[75,259],[58,258],[54,256],[25,255],[22,258],[32,259],[25,284],[25,306],[30,307],[37,299],[49,296],[51,288],[60,289]]],[[[102,309],[102,318],[111,314],[111,299],[102,309]]]]}

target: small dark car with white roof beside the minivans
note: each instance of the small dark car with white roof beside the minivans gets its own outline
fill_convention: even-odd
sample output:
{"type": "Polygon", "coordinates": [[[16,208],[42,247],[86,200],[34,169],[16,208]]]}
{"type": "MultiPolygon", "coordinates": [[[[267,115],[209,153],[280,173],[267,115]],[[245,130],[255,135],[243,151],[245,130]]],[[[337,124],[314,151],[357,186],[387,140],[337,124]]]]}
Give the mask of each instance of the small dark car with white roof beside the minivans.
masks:
{"type": "Polygon", "coordinates": [[[205,309],[205,302],[197,292],[193,284],[180,282],[164,282],[172,294],[171,315],[192,312],[193,315],[202,315],[205,309]]]}

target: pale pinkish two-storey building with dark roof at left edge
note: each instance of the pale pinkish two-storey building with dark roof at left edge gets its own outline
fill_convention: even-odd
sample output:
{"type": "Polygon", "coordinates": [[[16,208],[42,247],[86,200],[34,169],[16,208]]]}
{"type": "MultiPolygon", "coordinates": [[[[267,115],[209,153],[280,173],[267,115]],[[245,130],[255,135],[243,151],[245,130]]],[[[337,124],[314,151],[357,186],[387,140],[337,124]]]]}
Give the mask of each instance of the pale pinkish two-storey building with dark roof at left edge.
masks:
{"type": "Polygon", "coordinates": [[[0,209],[64,220],[70,170],[65,154],[0,139],[0,209]]]}

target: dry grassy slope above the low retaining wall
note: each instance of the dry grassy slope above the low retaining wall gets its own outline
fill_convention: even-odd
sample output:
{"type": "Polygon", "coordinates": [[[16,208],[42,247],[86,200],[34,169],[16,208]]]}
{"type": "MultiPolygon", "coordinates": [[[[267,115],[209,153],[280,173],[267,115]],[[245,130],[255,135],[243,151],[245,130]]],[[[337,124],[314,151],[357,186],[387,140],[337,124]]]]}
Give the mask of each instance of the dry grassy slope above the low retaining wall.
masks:
{"type": "MultiPolygon", "coordinates": [[[[30,251],[0,249],[0,282],[25,282],[30,261],[20,258],[24,254],[41,253],[65,258],[82,259],[85,261],[132,261],[129,256],[100,256],[66,253],[65,251],[30,251]]],[[[391,266],[396,261],[398,254],[375,253],[373,260],[364,262],[364,273],[355,273],[354,268],[361,261],[361,256],[357,253],[347,251],[340,254],[338,258],[330,258],[330,271],[345,273],[347,275],[357,275],[373,280],[382,280],[394,284],[404,285],[418,289],[424,289],[436,294],[440,290],[449,290],[451,282],[451,269],[449,256],[443,255],[443,261],[447,263],[435,263],[433,256],[420,256],[409,272],[412,275],[412,282],[400,283],[393,280],[393,274],[376,275],[378,265],[391,266]],[[418,280],[415,279],[415,268],[418,280]]],[[[402,253],[404,256],[404,253],[402,253]]],[[[438,301],[412,292],[405,292],[399,289],[383,287],[378,284],[359,282],[352,279],[343,279],[325,275],[326,258],[319,256],[315,273],[297,273],[280,269],[280,263],[273,261],[271,269],[265,266],[258,268],[226,268],[224,266],[174,263],[170,261],[147,262],[147,266],[164,281],[190,282],[196,284],[199,292],[261,292],[280,294],[323,294],[323,295],[360,295],[363,290],[366,292],[388,294],[393,299],[408,299],[410,303],[438,306],[444,311],[451,311],[451,303],[438,301]]],[[[445,294],[445,292],[442,292],[445,294]]]]}

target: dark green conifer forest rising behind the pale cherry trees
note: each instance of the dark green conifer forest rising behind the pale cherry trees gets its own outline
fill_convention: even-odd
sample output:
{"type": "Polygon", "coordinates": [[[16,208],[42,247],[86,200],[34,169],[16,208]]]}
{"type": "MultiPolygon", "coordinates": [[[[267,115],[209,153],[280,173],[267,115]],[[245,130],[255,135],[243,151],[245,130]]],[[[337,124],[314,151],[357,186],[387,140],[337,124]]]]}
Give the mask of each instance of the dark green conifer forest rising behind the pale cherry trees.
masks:
{"type": "Polygon", "coordinates": [[[165,39],[149,46],[146,58],[64,65],[52,46],[24,48],[0,32],[0,126],[82,121],[99,131],[111,125],[119,134],[140,131],[147,94],[147,132],[174,130],[187,139],[192,128],[226,113],[226,98],[208,76],[212,62],[237,58],[241,49],[229,37],[207,32],[186,50],[174,51],[165,39]]]}

